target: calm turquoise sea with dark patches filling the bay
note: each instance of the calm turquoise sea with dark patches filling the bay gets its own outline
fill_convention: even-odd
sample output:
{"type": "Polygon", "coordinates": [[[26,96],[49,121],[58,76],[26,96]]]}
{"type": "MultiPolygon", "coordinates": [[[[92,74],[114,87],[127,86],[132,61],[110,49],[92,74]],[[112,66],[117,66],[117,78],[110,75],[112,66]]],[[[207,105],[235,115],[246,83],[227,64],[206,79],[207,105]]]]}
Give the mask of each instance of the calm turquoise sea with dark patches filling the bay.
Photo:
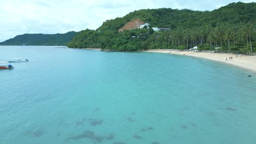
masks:
{"type": "Polygon", "coordinates": [[[252,71],[165,53],[0,46],[0,59],[15,57],[30,62],[0,70],[0,143],[256,143],[252,71]]]}

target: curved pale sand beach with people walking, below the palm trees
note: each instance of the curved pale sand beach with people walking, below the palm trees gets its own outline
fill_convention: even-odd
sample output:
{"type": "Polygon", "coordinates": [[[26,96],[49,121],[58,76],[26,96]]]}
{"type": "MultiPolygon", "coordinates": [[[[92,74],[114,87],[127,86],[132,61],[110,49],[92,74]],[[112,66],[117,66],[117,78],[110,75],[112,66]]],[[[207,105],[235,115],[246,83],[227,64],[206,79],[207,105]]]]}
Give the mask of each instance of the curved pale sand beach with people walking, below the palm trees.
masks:
{"type": "Polygon", "coordinates": [[[184,55],[199,58],[206,58],[212,61],[223,62],[226,64],[232,64],[237,67],[252,70],[256,72],[256,56],[236,55],[232,53],[210,53],[210,52],[194,52],[194,51],[174,51],[174,50],[147,50],[144,52],[157,52],[157,53],[170,53],[173,55],[184,55]],[[229,59],[232,57],[232,59],[229,59]],[[226,60],[226,58],[228,60],[226,60]]]}

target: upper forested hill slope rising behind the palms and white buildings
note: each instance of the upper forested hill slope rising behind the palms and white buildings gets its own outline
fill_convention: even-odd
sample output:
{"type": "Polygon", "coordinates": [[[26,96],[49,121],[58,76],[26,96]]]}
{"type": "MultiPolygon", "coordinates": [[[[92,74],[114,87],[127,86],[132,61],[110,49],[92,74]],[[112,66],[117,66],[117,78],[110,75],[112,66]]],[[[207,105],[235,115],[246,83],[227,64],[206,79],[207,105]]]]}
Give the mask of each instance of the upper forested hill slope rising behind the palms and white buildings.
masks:
{"type": "Polygon", "coordinates": [[[217,26],[222,23],[240,23],[256,21],[256,3],[230,3],[213,11],[177,10],[171,8],[142,9],[133,11],[124,17],[107,20],[98,30],[119,29],[133,19],[141,19],[152,27],[168,27],[175,29],[199,26],[217,26]]]}

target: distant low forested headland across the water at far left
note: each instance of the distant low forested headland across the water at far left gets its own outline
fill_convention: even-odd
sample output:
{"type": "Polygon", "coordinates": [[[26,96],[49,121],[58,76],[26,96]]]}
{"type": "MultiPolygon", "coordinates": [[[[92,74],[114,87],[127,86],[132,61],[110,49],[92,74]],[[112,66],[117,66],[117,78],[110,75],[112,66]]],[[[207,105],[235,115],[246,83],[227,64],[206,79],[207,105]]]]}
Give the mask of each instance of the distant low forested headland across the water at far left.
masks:
{"type": "Polygon", "coordinates": [[[67,45],[76,32],[65,34],[22,34],[5,40],[0,45],[67,45]]]}

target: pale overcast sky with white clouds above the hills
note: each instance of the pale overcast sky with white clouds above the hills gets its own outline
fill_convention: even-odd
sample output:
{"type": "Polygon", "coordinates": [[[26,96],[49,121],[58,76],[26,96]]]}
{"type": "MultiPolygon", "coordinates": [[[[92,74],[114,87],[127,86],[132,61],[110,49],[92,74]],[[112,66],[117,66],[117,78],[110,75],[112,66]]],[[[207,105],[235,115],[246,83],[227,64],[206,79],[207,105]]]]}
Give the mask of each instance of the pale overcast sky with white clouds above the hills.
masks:
{"type": "MultiPolygon", "coordinates": [[[[0,1],[0,42],[24,33],[66,33],[96,29],[106,20],[139,9],[214,10],[232,0],[8,0],[0,1]]],[[[256,2],[256,0],[242,2],[256,2]]]]}

